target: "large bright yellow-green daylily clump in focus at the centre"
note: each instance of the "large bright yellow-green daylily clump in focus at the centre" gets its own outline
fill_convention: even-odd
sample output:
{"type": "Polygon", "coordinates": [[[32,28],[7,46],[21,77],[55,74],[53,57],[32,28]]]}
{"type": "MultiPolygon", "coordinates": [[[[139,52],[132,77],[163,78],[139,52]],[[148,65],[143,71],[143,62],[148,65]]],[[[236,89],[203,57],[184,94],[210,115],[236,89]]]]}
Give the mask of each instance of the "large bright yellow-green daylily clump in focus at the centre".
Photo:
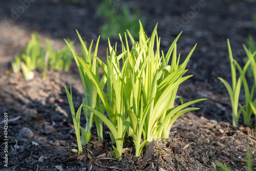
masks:
{"type": "MultiPolygon", "coordinates": [[[[102,101],[101,104],[98,104],[98,107],[85,104],[84,101],[82,106],[109,127],[112,144],[116,144],[116,146],[113,146],[116,157],[122,155],[126,135],[133,137],[136,148],[135,155],[138,157],[142,148],[151,141],[161,137],[168,138],[174,121],[180,115],[199,109],[186,108],[188,105],[205,100],[198,99],[183,103],[182,98],[177,96],[179,85],[191,77],[191,75],[182,76],[187,71],[185,67],[196,46],[188,54],[185,61],[180,64],[180,55],[177,58],[176,45],[180,35],[175,39],[165,56],[163,52],[160,52],[157,25],[151,38],[148,38],[140,23],[138,42],[134,40],[129,31],[127,31],[127,34],[130,37],[132,48],[129,47],[126,34],[124,34],[124,41],[119,34],[122,53],[117,55],[117,45],[112,47],[109,41],[106,64],[96,56],[97,52],[94,53],[93,63],[96,63],[96,67],[93,67],[94,65],[88,59],[79,57],[74,49],[69,46],[77,62],[79,72],[81,70],[80,75],[83,75],[81,78],[84,87],[88,85],[91,93],[97,94],[102,101]],[[168,65],[172,53],[171,65],[168,65]],[[120,65],[121,63],[122,65],[120,65]],[[94,70],[98,65],[104,73],[101,80],[98,78],[97,70],[94,70]],[[88,79],[84,79],[84,77],[88,77],[88,79]],[[103,91],[105,83],[107,86],[106,92],[103,91]],[[182,103],[176,108],[174,108],[175,99],[180,99],[182,103]],[[104,116],[104,110],[108,117],[104,116]],[[143,140],[141,141],[142,136],[143,140]]],[[[82,43],[82,40],[80,41],[82,43]]],[[[67,95],[70,104],[73,104],[68,91],[67,95]]],[[[71,109],[73,110],[72,105],[71,109]]],[[[78,132],[77,136],[80,136],[78,132]]]]}

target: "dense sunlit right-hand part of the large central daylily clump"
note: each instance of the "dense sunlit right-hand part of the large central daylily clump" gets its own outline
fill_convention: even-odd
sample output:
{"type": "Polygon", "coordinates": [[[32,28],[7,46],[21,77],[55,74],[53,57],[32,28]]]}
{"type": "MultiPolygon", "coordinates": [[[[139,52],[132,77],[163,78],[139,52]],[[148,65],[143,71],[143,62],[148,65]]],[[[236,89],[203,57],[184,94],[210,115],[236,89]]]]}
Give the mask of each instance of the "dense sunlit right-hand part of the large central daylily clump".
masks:
{"type": "MultiPolygon", "coordinates": [[[[134,42],[132,35],[129,33],[134,46],[131,52],[127,52],[127,56],[130,56],[130,61],[132,61],[130,62],[130,77],[132,78],[133,87],[130,96],[130,106],[132,106],[132,109],[129,109],[128,114],[132,128],[130,136],[134,139],[136,156],[139,156],[142,147],[151,141],[160,139],[161,137],[168,138],[174,121],[180,115],[198,109],[188,108],[182,110],[183,108],[205,100],[198,99],[191,101],[173,110],[175,99],[179,98],[183,101],[176,94],[179,84],[191,77],[182,77],[182,75],[187,71],[185,70],[185,66],[195,49],[194,47],[185,61],[179,66],[180,58],[177,59],[176,56],[176,42],[180,35],[178,35],[170,46],[167,55],[164,56],[162,52],[162,56],[160,56],[160,38],[157,36],[157,25],[151,38],[147,38],[140,23],[140,39],[138,43],[134,42]],[[155,41],[156,51],[154,51],[155,41]],[[169,66],[168,61],[172,53],[172,64],[169,66]],[[143,134],[144,141],[140,144],[141,134],[143,134]]],[[[127,42],[127,39],[125,40],[127,42]]],[[[127,43],[126,46],[128,51],[129,47],[127,43]]]]}

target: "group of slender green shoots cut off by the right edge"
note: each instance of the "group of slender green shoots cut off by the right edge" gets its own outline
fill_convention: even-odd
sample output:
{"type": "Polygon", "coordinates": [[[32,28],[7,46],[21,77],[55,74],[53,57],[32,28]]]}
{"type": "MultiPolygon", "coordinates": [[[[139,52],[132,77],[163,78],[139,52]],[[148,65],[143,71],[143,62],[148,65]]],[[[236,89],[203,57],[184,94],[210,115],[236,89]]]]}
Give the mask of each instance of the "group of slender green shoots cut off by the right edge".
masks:
{"type": "Polygon", "coordinates": [[[232,88],[229,86],[228,82],[224,80],[223,78],[219,78],[226,86],[226,89],[228,90],[230,100],[231,100],[231,105],[232,105],[232,116],[233,116],[233,126],[238,126],[239,122],[239,117],[241,113],[243,113],[243,118],[244,118],[244,123],[246,125],[251,125],[250,119],[252,115],[252,111],[254,112],[256,116],[256,100],[253,100],[253,95],[254,95],[254,89],[255,89],[255,84],[256,84],[256,62],[255,62],[255,55],[256,51],[252,54],[250,50],[248,50],[245,46],[245,52],[247,54],[248,60],[245,64],[244,69],[242,69],[239,64],[237,63],[236,60],[233,59],[232,57],[232,52],[228,42],[228,50],[229,50],[229,58],[230,58],[230,66],[231,66],[231,75],[232,75],[232,88]],[[248,83],[246,81],[245,73],[248,69],[248,67],[251,67],[251,72],[253,73],[254,76],[254,84],[252,86],[252,89],[250,91],[248,87],[248,83]],[[240,76],[237,80],[237,74],[236,74],[236,69],[239,70],[240,76]],[[239,104],[239,96],[240,96],[240,91],[241,91],[241,86],[244,86],[245,90],[245,105],[239,104]],[[240,106],[240,109],[238,108],[240,106]],[[254,111],[255,110],[255,111],[254,111]]]}

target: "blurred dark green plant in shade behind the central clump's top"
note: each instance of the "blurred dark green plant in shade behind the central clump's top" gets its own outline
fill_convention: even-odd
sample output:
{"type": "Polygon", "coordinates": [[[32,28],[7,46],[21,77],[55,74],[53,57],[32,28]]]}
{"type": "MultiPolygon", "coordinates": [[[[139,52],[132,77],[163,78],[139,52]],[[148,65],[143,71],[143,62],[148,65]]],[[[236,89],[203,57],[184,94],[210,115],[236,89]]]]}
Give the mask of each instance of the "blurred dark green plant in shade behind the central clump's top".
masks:
{"type": "Polygon", "coordinates": [[[138,38],[139,26],[137,24],[140,11],[131,13],[127,3],[113,3],[112,0],[104,0],[97,8],[97,13],[104,18],[104,25],[100,27],[100,35],[103,39],[119,38],[118,33],[130,31],[135,38],[138,38]]]}

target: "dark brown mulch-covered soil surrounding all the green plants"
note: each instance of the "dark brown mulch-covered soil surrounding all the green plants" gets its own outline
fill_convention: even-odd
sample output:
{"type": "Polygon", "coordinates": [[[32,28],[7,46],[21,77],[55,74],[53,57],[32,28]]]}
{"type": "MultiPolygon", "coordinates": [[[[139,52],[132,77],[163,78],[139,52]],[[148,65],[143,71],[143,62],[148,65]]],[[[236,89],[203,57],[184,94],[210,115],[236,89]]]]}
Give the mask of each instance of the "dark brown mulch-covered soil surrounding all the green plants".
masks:
{"type": "MultiPolygon", "coordinates": [[[[114,8],[123,3],[113,2],[117,2],[114,8]]],[[[41,79],[40,71],[36,72],[34,80],[25,81],[22,73],[9,72],[10,63],[27,45],[34,31],[39,32],[42,44],[45,38],[50,38],[54,49],[60,49],[65,46],[63,38],[70,38],[79,51],[75,29],[87,41],[99,35],[103,19],[95,14],[95,10],[100,1],[84,1],[80,5],[34,1],[14,19],[12,9],[20,8],[20,2],[0,0],[0,118],[2,121],[4,113],[8,113],[9,139],[8,167],[1,162],[0,170],[209,170],[216,168],[216,160],[232,170],[246,170],[246,153],[249,150],[253,170],[256,170],[254,129],[243,125],[242,116],[241,126],[232,126],[229,96],[217,79],[231,80],[227,38],[233,57],[243,65],[245,53],[242,44],[247,44],[248,34],[256,38],[255,23],[251,18],[256,13],[255,2],[127,2],[141,10],[147,33],[151,33],[158,22],[158,35],[164,52],[182,30],[177,44],[182,59],[198,43],[187,66],[188,74],[194,76],[180,86],[178,94],[186,101],[208,100],[195,105],[200,110],[182,115],[175,122],[170,138],[148,145],[139,158],[134,157],[133,144],[128,142],[124,144],[123,157],[113,158],[108,129],[104,129],[104,143],[97,142],[94,137],[84,146],[84,153],[73,153],[72,148],[77,148],[76,137],[62,85],[69,86],[72,76],[73,100],[78,109],[83,88],[75,63],[72,63],[69,73],[49,70],[45,81],[41,79]],[[193,13],[193,8],[202,2],[200,11],[193,13]],[[184,16],[190,19],[186,20],[184,16]],[[23,127],[28,127],[34,136],[20,138],[19,131],[23,127]]],[[[111,41],[114,44],[118,40],[111,41]]],[[[107,45],[106,41],[100,41],[98,55],[102,59],[107,45]]],[[[241,103],[244,103],[243,98],[241,103]]],[[[4,124],[1,121],[0,157],[3,161],[6,153],[4,124]]],[[[252,121],[255,123],[254,116],[252,121]]],[[[85,124],[84,117],[81,123],[85,124]]],[[[96,135],[95,127],[92,134],[96,135]]]]}

